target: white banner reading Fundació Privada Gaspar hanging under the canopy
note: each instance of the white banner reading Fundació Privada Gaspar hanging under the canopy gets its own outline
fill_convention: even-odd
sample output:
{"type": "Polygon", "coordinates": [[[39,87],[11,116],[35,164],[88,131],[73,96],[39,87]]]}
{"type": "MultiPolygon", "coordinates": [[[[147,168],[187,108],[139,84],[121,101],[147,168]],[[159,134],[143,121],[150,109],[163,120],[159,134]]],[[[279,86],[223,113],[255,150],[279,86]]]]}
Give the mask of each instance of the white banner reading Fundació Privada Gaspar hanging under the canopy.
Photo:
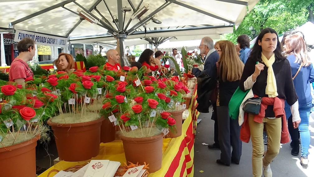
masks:
{"type": "Polygon", "coordinates": [[[36,44],[55,47],[66,47],[68,41],[67,38],[63,37],[48,36],[23,30],[16,30],[14,41],[18,42],[26,37],[33,39],[36,44]]]}

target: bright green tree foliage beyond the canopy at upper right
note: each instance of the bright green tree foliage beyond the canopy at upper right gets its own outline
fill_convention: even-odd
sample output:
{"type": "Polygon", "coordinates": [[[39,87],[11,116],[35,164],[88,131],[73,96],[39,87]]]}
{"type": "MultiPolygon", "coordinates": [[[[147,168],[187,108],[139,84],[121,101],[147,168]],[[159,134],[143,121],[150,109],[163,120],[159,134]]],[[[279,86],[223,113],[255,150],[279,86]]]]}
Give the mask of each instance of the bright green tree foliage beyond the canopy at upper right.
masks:
{"type": "Polygon", "coordinates": [[[225,38],[237,43],[238,36],[246,34],[253,39],[267,27],[273,28],[278,34],[295,29],[308,21],[310,13],[307,6],[313,8],[311,4],[312,0],[260,0],[240,26],[236,30],[234,28],[233,33],[226,34],[225,38]],[[252,30],[256,31],[255,36],[252,35],[252,30]]]}

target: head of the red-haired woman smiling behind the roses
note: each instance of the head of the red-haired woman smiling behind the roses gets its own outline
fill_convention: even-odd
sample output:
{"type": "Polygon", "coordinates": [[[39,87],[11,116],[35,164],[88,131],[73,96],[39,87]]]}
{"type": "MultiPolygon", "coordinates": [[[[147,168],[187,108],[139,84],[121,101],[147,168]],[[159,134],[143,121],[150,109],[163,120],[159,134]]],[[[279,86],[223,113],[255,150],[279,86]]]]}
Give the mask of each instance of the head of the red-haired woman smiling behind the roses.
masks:
{"type": "Polygon", "coordinates": [[[74,71],[74,59],[71,54],[60,53],[58,59],[53,63],[57,67],[57,71],[64,71],[67,73],[74,71]]]}

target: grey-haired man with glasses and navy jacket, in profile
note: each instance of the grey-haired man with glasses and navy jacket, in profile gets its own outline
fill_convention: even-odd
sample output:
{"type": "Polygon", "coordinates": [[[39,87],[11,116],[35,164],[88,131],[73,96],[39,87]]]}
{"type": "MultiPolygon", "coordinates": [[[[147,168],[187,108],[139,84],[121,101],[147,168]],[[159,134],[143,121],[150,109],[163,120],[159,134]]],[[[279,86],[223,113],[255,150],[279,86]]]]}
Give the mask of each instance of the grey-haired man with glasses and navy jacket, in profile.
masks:
{"type": "MultiPolygon", "coordinates": [[[[205,55],[204,69],[200,70],[199,68],[193,68],[192,73],[195,75],[195,77],[198,77],[198,75],[201,75],[204,72],[206,72],[208,76],[211,76],[211,78],[216,78],[217,74],[215,72],[215,67],[216,67],[216,62],[218,62],[218,59],[219,59],[219,54],[214,49],[213,39],[211,39],[210,37],[203,37],[198,48],[201,50],[200,54],[205,55]]],[[[198,98],[198,99],[200,99],[200,98],[198,98]]],[[[202,97],[202,99],[208,100],[208,98],[206,98],[206,97],[202,97]]],[[[204,100],[204,102],[205,102],[205,100],[204,100]]],[[[213,105],[213,113],[212,113],[211,119],[215,121],[215,123],[214,123],[214,144],[208,145],[208,148],[219,150],[220,148],[219,148],[219,141],[218,141],[218,121],[217,121],[217,114],[216,114],[216,103],[212,103],[212,105],[213,105]]],[[[206,108],[206,110],[207,110],[207,108],[206,108]]],[[[206,112],[204,112],[204,113],[206,113],[206,112]]]]}

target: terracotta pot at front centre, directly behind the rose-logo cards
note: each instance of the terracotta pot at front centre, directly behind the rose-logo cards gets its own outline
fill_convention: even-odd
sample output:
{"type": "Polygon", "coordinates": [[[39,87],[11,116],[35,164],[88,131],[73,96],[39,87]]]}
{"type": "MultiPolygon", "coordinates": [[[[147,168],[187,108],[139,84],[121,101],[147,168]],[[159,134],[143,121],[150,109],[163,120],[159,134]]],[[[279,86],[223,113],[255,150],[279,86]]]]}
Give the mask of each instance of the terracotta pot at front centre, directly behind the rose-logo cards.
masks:
{"type": "Polygon", "coordinates": [[[120,135],[127,162],[134,164],[149,163],[149,173],[158,171],[161,168],[162,157],[162,134],[144,137],[131,138],[120,135]]]}

